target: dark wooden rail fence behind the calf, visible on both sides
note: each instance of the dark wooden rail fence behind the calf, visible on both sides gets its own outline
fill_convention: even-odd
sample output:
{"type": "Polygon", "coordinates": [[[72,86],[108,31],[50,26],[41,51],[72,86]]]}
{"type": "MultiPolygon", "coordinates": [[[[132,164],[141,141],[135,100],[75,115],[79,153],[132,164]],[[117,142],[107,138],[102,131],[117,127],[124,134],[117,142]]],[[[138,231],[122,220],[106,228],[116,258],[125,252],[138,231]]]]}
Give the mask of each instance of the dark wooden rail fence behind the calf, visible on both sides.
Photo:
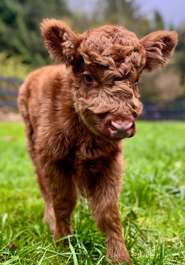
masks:
{"type": "MultiPolygon", "coordinates": [[[[17,95],[22,80],[0,76],[0,107],[18,110],[17,95]]],[[[140,120],[185,120],[185,99],[173,101],[140,99],[143,111],[140,120]]]]}

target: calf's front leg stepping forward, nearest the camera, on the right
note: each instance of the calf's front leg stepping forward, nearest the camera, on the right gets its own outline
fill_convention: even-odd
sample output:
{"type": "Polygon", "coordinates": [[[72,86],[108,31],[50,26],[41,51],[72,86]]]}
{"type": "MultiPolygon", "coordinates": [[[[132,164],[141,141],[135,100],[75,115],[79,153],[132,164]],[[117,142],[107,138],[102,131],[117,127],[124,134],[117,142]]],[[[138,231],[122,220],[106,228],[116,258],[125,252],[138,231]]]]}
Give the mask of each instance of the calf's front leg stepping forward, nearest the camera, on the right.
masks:
{"type": "Polygon", "coordinates": [[[101,171],[94,176],[96,181],[89,186],[92,213],[97,226],[105,233],[107,257],[112,262],[130,262],[130,256],[122,236],[121,218],[118,209],[118,194],[122,187],[121,160],[117,157],[102,163],[101,171]]]}

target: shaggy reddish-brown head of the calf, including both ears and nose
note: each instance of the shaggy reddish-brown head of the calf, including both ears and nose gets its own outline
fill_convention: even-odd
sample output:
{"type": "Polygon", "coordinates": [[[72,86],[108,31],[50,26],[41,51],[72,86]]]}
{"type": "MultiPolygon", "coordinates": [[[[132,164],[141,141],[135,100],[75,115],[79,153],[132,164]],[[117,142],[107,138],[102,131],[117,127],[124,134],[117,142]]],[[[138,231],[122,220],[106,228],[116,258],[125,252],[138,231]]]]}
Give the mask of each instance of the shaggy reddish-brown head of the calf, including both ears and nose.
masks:
{"type": "Polygon", "coordinates": [[[174,31],[142,39],[115,25],[76,35],[64,22],[46,19],[42,35],[51,58],[71,67],[71,97],[79,117],[94,133],[111,140],[134,136],[142,111],[138,80],[163,67],[177,43],[174,31]]]}

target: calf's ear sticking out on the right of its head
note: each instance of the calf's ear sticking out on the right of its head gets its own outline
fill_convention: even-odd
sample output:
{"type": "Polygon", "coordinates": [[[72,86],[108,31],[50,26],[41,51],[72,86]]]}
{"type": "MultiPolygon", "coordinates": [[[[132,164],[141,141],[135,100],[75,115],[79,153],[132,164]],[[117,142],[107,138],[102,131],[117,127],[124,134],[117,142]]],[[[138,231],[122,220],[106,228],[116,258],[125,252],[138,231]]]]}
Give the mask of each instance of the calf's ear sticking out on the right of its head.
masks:
{"type": "Polygon", "coordinates": [[[177,37],[175,31],[163,30],[152,32],[139,40],[146,50],[146,71],[155,71],[168,62],[177,44],[177,37]]]}

